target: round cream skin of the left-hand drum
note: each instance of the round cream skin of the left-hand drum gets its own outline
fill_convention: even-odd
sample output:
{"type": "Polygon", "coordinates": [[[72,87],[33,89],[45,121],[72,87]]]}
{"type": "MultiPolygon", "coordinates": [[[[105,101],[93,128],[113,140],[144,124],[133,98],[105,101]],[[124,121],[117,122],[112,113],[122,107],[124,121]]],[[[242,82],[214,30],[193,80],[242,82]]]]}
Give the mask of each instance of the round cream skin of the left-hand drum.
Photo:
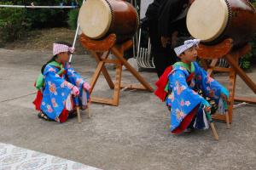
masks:
{"type": "Polygon", "coordinates": [[[87,37],[98,39],[105,36],[111,20],[111,8],[105,0],[87,0],[80,8],[79,26],[87,37]]]}

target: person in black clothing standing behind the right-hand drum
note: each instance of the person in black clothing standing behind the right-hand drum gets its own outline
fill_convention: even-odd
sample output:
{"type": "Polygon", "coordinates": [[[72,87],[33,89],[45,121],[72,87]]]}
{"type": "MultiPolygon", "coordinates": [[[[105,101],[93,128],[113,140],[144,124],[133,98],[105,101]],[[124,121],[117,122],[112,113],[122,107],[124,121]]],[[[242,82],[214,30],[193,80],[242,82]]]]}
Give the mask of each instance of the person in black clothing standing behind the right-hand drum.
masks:
{"type": "Polygon", "coordinates": [[[154,0],[148,6],[146,20],[158,77],[176,62],[173,47],[177,37],[188,37],[186,14],[195,0],[154,0]]]}

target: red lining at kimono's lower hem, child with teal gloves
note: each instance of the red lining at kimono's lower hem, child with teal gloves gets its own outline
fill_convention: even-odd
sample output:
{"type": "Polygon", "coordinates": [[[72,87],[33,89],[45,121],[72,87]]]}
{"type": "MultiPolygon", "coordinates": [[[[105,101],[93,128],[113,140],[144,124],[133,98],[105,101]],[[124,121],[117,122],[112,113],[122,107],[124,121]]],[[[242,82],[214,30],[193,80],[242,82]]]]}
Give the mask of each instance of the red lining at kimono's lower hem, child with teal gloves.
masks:
{"type": "Polygon", "coordinates": [[[199,105],[194,108],[194,110],[190,111],[189,115],[185,116],[183,119],[183,122],[179,124],[179,127],[176,127],[174,130],[172,130],[172,133],[178,134],[183,133],[183,131],[189,126],[189,124],[192,122],[195,114],[197,113],[199,108],[199,105]]]}

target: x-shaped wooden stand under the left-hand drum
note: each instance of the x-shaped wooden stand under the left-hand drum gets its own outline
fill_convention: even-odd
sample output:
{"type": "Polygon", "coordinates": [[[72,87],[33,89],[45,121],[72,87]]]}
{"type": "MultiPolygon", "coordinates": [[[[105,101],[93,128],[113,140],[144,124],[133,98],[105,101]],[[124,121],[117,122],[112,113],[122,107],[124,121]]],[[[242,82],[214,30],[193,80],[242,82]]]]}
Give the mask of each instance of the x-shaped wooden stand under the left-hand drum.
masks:
{"type": "Polygon", "coordinates": [[[97,62],[96,71],[91,80],[91,91],[95,88],[96,82],[98,77],[100,76],[101,72],[105,79],[108,82],[109,88],[113,89],[113,98],[106,99],[106,98],[98,98],[98,97],[91,97],[92,102],[100,103],[100,104],[107,104],[107,105],[119,105],[119,94],[121,88],[131,88],[131,89],[139,89],[139,90],[147,90],[149,92],[153,92],[153,88],[146,82],[143,77],[126,61],[124,58],[125,50],[132,47],[132,41],[129,40],[122,44],[116,44],[116,36],[114,34],[110,34],[108,37],[96,41],[92,40],[89,37],[84,36],[82,34],[80,36],[80,42],[84,48],[90,51],[90,53],[95,57],[97,62]],[[112,53],[116,59],[108,59],[108,55],[112,53]],[[116,65],[116,75],[115,75],[115,82],[113,83],[111,77],[108,74],[108,70],[105,67],[105,64],[115,64],[116,65]],[[128,71],[137,78],[142,85],[134,85],[134,84],[122,84],[122,66],[125,65],[128,71]]]}

